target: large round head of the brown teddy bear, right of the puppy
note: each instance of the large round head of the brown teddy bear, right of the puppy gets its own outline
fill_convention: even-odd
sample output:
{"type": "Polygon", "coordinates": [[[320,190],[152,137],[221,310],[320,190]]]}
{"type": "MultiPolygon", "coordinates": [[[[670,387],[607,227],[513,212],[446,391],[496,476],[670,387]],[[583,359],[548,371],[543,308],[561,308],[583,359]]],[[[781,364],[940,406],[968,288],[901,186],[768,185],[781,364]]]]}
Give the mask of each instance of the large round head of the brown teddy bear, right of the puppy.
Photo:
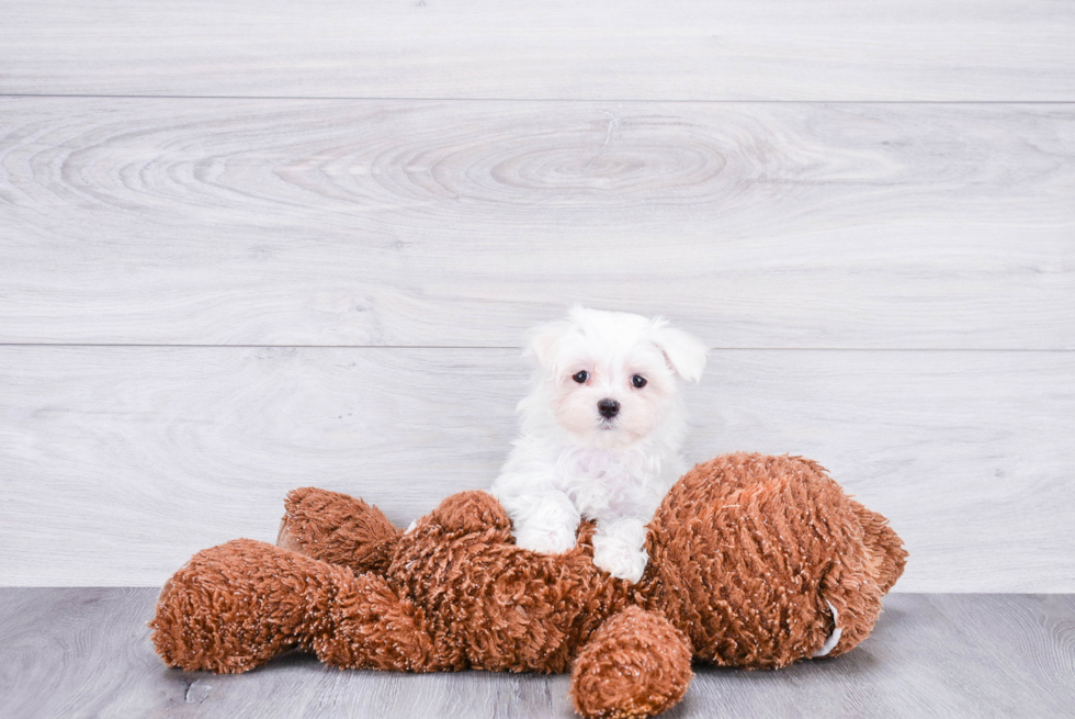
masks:
{"type": "Polygon", "coordinates": [[[840,628],[851,629],[834,655],[861,641],[906,557],[886,520],[821,465],[750,453],[684,474],[649,525],[647,550],[646,608],[664,613],[695,656],[751,667],[816,653],[840,628]]]}

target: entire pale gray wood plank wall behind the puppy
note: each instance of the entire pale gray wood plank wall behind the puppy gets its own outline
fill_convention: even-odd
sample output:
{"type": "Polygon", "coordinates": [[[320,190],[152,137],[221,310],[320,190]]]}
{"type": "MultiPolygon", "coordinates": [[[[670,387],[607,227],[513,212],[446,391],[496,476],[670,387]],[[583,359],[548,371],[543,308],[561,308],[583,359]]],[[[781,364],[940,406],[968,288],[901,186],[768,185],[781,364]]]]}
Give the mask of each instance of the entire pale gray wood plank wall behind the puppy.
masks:
{"type": "Polygon", "coordinates": [[[898,589],[1075,591],[1075,8],[9,3],[0,585],[488,484],[573,301],[714,348],[898,589]]]}

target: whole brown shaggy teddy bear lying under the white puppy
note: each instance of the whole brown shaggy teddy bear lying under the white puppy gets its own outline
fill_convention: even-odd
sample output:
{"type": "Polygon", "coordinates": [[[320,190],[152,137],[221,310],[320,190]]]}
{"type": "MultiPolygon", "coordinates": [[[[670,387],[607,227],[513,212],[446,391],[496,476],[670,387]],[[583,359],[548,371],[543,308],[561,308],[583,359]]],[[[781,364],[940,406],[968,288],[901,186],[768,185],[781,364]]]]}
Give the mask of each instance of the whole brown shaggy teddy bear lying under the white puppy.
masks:
{"type": "Polygon", "coordinates": [[[634,585],[593,565],[589,524],[559,555],[510,530],[485,492],[401,532],[361,499],[296,490],[278,546],[207,549],[168,581],[152,640],[188,671],[245,672],[292,648],[339,667],[570,671],[579,714],[645,717],[682,698],[692,659],[765,669],[849,651],[906,560],[884,517],[795,457],[684,474],[634,585]]]}

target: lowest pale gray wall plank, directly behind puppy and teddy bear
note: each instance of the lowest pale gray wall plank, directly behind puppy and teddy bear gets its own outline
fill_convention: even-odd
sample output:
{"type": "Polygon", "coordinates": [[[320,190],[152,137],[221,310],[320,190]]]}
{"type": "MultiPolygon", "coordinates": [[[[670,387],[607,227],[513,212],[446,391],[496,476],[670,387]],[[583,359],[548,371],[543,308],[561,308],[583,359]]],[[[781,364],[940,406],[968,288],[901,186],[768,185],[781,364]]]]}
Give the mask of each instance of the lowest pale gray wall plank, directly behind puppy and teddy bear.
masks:
{"type": "MultiPolygon", "coordinates": [[[[1071,592],[1072,357],[718,351],[687,453],[822,462],[907,542],[897,591],[1071,592]]],[[[0,583],[159,585],[274,540],[310,484],[405,526],[491,482],[527,372],[500,349],[0,348],[0,583]]]]}

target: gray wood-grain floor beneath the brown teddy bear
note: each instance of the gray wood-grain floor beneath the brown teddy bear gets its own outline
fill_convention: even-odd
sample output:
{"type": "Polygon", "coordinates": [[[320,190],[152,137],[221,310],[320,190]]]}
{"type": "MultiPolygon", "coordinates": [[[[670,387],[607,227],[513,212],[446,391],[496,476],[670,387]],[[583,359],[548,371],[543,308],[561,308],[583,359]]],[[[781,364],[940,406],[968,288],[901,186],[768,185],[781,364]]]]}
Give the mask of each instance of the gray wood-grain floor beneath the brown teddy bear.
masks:
{"type": "MultiPolygon", "coordinates": [[[[340,672],[288,654],[241,675],[165,669],[157,589],[0,589],[0,714],[38,717],[567,717],[566,676],[340,672]]],[[[891,595],[849,654],[773,672],[697,666],[671,719],[1067,717],[1075,597],[891,595]]]]}

